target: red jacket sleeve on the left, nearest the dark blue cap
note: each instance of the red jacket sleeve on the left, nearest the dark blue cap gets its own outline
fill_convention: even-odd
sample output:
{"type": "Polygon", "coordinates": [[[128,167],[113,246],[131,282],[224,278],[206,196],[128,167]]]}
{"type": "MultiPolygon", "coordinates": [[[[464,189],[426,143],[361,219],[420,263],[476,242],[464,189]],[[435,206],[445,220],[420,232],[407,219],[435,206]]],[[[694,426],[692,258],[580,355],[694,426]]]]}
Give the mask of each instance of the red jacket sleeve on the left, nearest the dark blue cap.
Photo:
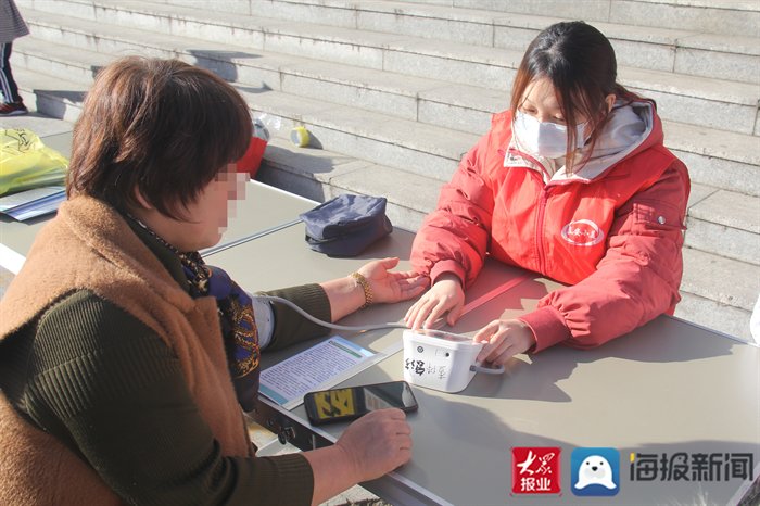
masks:
{"type": "Polygon", "coordinates": [[[481,138],[465,155],[415,237],[411,265],[432,282],[454,273],[469,287],[483,267],[494,208],[493,189],[483,176],[489,139],[490,135],[481,138]]]}

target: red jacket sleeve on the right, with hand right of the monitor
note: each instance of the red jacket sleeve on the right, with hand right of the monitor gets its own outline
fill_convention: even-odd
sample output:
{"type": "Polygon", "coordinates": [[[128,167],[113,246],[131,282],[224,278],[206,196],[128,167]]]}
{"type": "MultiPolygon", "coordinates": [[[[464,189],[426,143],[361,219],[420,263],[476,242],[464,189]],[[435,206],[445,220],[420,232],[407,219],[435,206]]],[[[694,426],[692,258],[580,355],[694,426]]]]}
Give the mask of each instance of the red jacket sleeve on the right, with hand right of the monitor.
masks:
{"type": "Polygon", "coordinates": [[[681,300],[683,230],[689,180],[675,162],[651,187],[618,210],[597,270],[554,291],[520,317],[536,337],[535,351],[560,341],[594,347],[671,313],[681,300]]]}

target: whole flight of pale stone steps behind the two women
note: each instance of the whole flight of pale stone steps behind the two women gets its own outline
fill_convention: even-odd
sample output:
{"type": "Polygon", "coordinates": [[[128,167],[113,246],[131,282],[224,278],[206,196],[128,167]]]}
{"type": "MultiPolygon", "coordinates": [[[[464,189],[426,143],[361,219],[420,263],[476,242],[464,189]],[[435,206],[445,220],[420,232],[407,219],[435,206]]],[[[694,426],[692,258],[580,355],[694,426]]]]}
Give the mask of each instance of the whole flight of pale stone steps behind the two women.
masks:
{"type": "MultiPolygon", "coordinates": [[[[254,114],[281,118],[259,179],[315,200],[382,194],[393,223],[409,229],[434,207],[491,114],[507,107],[521,45],[556,21],[505,14],[489,2],[473,10],[452,2],[205,1],[188,9],[190,0],[18,0],[33,36],[14,43],[17,80],[40,111],[73,121],[93,73],[114,58],[179,58],[211,68],[238,87],[254,114]],[[301,124],[321,149],[289,143],[290,128],[301,124]]],[[[610,9],[610,26],[595,25],[616,45],[621,80],[658,101],[670,118],[667,144],[694,182],[676,315],[712,328],[727,318],[736,321],[723,326],[735,328],[729,333],[748,337],[742,321],[760,287],[759,39],[696,35],[686,25],[642,29],[609,18],[610,9]],[[684,63],[697,49],[713,66],[736,68],[731,61],[738,59],[748,72],[736,80],[701,75],[684,63]]]]}

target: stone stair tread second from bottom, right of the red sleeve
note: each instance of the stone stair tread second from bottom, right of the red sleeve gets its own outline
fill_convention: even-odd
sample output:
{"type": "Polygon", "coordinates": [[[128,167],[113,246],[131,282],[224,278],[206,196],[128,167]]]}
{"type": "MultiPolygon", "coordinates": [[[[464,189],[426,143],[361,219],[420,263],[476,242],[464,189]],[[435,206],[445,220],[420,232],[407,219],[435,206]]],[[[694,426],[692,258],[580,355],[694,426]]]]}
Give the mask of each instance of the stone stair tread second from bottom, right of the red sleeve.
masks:
{"type": "Polygon", "coordinates": [[[689,216],[760,235],[760,197],[718,190],[691,207],[689,216]]]}

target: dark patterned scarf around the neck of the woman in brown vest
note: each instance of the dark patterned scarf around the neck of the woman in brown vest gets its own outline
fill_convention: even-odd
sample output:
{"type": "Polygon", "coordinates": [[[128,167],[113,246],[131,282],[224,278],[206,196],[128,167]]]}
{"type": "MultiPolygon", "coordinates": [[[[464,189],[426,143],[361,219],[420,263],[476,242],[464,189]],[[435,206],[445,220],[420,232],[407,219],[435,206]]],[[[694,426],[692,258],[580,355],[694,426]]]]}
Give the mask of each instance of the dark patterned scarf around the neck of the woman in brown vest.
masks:
{"type": "Polygon", "coordinates": [[[235,392],[243,409],[250,412],[258,397],[261,371],[258,330],[251,298],[225,270],[206,265],[197,251],[180,252],[143,223],[128,216],[179,257],[193,299],[208,295],[216,299],[235,392]]]}

